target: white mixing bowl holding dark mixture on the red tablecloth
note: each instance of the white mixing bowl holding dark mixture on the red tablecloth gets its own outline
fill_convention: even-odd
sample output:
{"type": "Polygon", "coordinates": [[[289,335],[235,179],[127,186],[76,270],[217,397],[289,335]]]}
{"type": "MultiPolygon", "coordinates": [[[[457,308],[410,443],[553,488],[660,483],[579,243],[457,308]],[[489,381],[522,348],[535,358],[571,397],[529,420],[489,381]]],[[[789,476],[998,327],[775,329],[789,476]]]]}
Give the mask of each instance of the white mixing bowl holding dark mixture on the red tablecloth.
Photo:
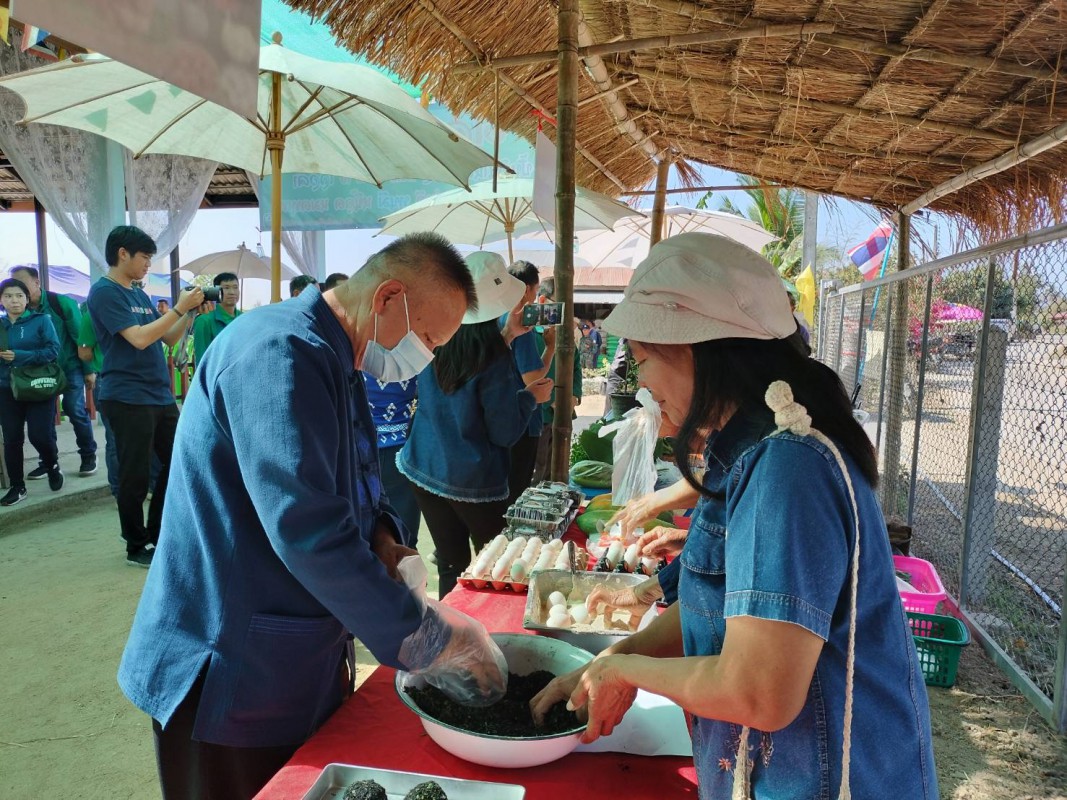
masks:
{"type": "MultiPolygon", "coordinates": [[[[545,670],[554,675],[566,675],[592,660],[592,654],[557,639],[528,634],[492,634],[508,662],[508,672],[528,675],[545,670]]],[[[439,722],[412,701],[403,690],[404,673],[397,673],[396,690],[401,702],[423,720],[423,727],[430,738],[452,755],[487,767],[537,767],[562,758],[578,746],[578,737],[586,729],[579,724],[570,731],[548,736],[490,736],[463,731],[439,722]]]]}

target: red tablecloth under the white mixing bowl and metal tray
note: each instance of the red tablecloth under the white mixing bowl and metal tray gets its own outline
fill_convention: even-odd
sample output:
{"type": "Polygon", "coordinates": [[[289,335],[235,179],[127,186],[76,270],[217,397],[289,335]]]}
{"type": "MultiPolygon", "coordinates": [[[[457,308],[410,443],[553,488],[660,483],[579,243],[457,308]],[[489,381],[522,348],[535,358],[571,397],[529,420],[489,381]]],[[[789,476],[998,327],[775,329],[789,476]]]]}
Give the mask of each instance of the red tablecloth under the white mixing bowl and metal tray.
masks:
{"type": "MultiPolygon", "coordinates": [[[[492,631],[521,633],[526,595],[458,587],[445,601],[492,631]]],[[[442,750],[393,688],[396,672],[380,667],[297,751],[256,800],[299,800],[332,762],[380,769],[516,783],[526,800],[560,798],[687,798],[697,796],[691,758],[572,753],[528,769],[493,769],[442,750]]]]}

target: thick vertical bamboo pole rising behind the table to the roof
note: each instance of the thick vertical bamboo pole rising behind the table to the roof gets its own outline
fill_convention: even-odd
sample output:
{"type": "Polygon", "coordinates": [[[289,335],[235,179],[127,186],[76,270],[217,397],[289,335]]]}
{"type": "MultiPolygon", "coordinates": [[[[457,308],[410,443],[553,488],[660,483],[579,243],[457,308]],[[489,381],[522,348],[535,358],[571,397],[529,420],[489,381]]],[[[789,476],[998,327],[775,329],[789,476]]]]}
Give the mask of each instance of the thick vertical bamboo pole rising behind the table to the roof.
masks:
{"type": "Polygon", "coordinates": [[[556,298],[563,301],[562,323],[556,329],[556,402],[552,425],[553,480],[566,481],[571,454],[571,412],[574,394],[574,172],[578,117],[578,0],[559,0],[556,101],[556,298]]]}

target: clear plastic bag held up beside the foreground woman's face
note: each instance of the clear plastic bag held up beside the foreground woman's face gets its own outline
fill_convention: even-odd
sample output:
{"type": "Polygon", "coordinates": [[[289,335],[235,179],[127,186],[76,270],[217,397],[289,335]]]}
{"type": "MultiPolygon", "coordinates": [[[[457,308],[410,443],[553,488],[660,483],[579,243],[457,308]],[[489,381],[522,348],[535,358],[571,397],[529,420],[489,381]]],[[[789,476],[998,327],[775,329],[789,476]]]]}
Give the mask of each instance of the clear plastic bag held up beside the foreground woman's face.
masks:
{"type": "Polygon", "coordinates": [[[611,471],[611,501],[625,506],[636,497],[650,494],[656,486],[656,441],[663,419],[659,403],[648,389],[637,393],[636,409],[626,412],[618,422],[600,429],[600,435],[616,432],[612,453],[615,469],[611,471]]]}

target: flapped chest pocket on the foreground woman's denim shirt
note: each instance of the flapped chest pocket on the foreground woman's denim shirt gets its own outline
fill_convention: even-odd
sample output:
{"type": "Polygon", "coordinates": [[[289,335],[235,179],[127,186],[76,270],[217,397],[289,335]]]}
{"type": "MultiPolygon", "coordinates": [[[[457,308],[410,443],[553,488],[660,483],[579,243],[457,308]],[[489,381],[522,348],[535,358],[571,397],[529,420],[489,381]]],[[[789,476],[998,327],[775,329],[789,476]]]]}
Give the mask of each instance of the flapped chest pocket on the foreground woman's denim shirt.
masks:
{"type": "Polygon", "coordinates": [[[726,637],[726,528],[698,514],[682,550],[679,603],[687,656],[712,656],[722,651],[726,637]]]}

